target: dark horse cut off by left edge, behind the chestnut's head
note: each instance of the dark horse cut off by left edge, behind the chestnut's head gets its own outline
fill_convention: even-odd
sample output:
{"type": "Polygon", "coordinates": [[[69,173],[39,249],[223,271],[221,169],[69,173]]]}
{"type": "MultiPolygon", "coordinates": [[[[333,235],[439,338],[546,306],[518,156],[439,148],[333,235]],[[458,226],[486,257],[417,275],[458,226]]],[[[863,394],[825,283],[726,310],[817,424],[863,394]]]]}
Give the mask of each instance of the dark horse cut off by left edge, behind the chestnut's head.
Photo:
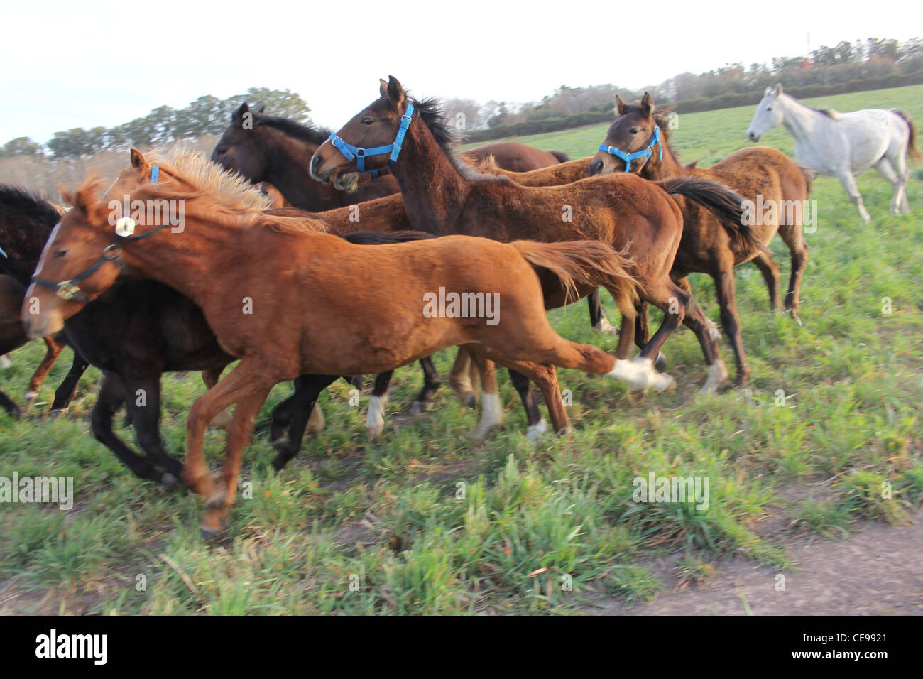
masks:
{"type": "MultiPolygon", "coordinates": [[[[44,233],[61,219],[61,213],[46,200],[31,194],[24,188],[0,185],[0,355],[29,342],[19,309],[29,285],[32,270],[39,261],[44,245],[44,233]]],[[[62,335],[43,337],[45,355],[39,367],[32,374],[26,390],[26,402],[32,403],[48,376],[54,361],[66,346],[62,335]]],[[[75,355],[75,361],[78,358],[75,355]]],[[[78,375],[79,377],[79,375],[78,375]]],[[[52,413],[66,412],[73,398],[77,380],[67,379],[58,389],[52,405],[52,413]]],[[[0,406],[12,417],[21,415],[19,406],[0,391],[0,406]]]]}

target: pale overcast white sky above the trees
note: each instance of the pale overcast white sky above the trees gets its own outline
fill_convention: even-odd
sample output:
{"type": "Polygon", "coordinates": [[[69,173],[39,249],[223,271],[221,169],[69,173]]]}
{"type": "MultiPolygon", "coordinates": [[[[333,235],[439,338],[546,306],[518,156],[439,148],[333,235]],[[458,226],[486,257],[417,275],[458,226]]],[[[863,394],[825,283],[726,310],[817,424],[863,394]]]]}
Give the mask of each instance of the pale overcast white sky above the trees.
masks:
{"type": "Polygon", "coordinates": [[[811,49],[923,34],[917,0],[29,0],[0,17],[0,143],[250,87],[296,91],[337,129],[389,75],[418,97],[521,103],[561,85],[636,89],[804,55],[808,33],[811,49]]]}

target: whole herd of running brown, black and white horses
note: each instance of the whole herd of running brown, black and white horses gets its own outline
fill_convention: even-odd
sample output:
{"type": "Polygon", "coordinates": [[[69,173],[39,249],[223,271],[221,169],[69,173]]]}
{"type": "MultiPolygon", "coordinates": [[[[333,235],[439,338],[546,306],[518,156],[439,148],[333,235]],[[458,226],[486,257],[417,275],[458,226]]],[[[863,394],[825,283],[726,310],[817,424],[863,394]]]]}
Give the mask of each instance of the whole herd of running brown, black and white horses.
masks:
{"type": "MultiPolygon", "coordinates": [[[[778,114],[786,99],[793,110],[804,106],[781,86],[767,89],[751,139],[797,117],[778,114]]],[[[414,410],[427,409],[440,382],[429,357],[449,346],[459,347],[450,385],[468,405],[480,382],[473,436],[502,422],[499,365],[509,370],[527,436],[535,439],[547,427],[532,383],[553,430],[569,428],[557,367],[605,374],[632,391],[675,389],[661,349],[680,324],[696,334],[708,366],[702,391],[727,381],[718,328],[691,295],[687,276],[699,272],[714,279],[736,383],[745,384],[734,267],[753,261],[771,309],[784,304],[797,319],[808,253],[800,212],[769,211],[752,223],[744,205],[803,204],[809,172],[760,146],[708,169],[683,166],[650,95],[616,104],[603,143],[581,160],[514,143],[456,154],[455,130],[438,103],[414,99],[391,78],[335,134],[244,103],[210,161],[182,149],[132,149],[111,184],[88,176],[73,192],[62,188],[66,211],[2,187],[0,354],[43,337],[48,349],[30,382],[31,399],[63,346],[74,349],[56,412],[66,410],[88,365],[101,369],[93,435],[139,477],[182,480],[202,495],[199,527],[207,537],[226,523],[242,451],[279,382],[293,380],[294,394],[271,414],[277,469],[297,453],[306,430],[323,426],[315,403],[331,382],[377,375],[366,418],[374,437],[392,370],[420,361],[424,387],[414,410]],[[164,216],[174,206],[179,220],[164,216]],[[766,247],[776,233],[791,253],[784,302],[779,266],[766,247]],[[546,317],[547,309],[587,297],[593,328],[612,331],[600,286],[621,314],[615,356],[560,337],[546,317]],[[653,336],[649,305],[663,311],[653,336]],[[640,352],[629,358],[632,344],[640,352]],[[189,410],[185,465],[166,452],[159,430],[160,379],[173,370],[201,370],[209,387],[189,410]],[[122,405],[143,455],[114,433],[122,405]],[[212,421],[227,430],[215,475],[202,451],[212,421]]],[[[900,160],[888,142],[869,164],[895,180],[897,212],[906,208],[905,152],[918,152],[909,118],[894,117],[904,125],[893,125],[903,129],[900,160]],[[890,176],[886,164],[893,164],[890,176]]],[[[858,192],[850,195],[855,200],[858,192]]],[[[864,211],[861,198],[857,207],[864,211]]],[[[18,414],[2,393],[0,405],[18,414]]]]}

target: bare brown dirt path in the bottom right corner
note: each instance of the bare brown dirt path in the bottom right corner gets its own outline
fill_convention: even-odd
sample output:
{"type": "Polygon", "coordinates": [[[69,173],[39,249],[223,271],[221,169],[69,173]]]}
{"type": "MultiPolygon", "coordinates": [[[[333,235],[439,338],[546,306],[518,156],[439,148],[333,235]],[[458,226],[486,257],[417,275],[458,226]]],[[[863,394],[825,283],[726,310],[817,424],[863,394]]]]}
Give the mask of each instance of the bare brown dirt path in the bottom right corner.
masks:
{"type": "Polygon", "coordinates": [[[649,603],[611,600],[594,612],[607,615],[920,615],[923,614],[923,512],[915,523],[860,524],[845,540],[791,540],[796,568],[782,572],[777,590],[771,567],[744,559],[716,564],[709,588],[676,591],[669,564],[654,570],[665,591],[649,603]],[[748,610],[749,607],[749,610],[748,610]]]}

